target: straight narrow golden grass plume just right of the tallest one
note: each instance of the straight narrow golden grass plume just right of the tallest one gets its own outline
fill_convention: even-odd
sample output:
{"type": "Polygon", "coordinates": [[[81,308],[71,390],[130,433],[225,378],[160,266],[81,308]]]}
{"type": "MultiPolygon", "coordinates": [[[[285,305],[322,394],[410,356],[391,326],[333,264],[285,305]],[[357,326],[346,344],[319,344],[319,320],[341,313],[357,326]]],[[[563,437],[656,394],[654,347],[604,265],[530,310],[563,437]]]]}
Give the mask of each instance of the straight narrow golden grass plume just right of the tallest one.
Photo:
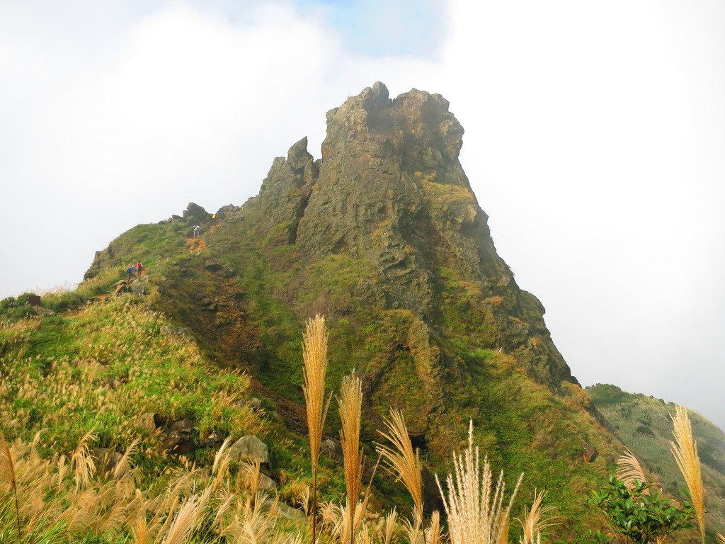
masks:
{"type": "Polygon", "coordinates": [[[363,408],[363,385],[353,373],[345,376],[340,386],[339,405],[341,429],[340,445],[347,490],[347,508],[350,544],[355,539],[355,508],[363,485],[363,457],[360,452],[360,419],[363,408]]]}

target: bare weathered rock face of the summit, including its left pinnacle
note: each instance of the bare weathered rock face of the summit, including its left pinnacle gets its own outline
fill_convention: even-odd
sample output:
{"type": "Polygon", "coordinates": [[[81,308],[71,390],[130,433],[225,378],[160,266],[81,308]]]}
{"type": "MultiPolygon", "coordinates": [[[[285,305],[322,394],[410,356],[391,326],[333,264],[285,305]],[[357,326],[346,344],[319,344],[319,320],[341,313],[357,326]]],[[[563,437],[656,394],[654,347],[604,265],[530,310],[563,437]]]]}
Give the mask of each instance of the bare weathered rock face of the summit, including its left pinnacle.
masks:
{"type": "Polygon", "coordinates": [[[390,99],[376,83],[328,112],[321,162],[302,139],[262,184],[255,205],[266,234],[317,259],[344,254],[370,263],[379,280],[364,296],[413,312],[428,332],[441,321],[441,271],[452,269],[477,289],[470,305],[494,331],[484,345],[514,353],[552,387],[575,381],[551,342],[541,303],[518,288],[497,255],[488,216],[458,160],[463,127],[448,106],[415,89],[390,99]]]}

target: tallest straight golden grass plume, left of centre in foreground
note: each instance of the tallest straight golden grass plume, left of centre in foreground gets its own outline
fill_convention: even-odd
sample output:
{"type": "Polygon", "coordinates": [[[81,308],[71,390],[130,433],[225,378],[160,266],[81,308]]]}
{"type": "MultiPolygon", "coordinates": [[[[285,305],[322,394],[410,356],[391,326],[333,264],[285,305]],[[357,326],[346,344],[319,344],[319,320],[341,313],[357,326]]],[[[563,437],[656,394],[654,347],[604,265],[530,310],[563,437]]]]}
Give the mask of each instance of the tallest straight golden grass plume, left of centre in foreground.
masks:
{"type": "Polygon", "coordinates": [[[307,407],[307,432],[310,435],[310,460],[312,461],[312,544],[317,538],[317,476],[320,460],[320,441],[325,426],[329,399],[325,400],[325,374],[327,371],[327,329],[325,318],[315,316],[307,320],[307,330],[302,337],[302,359],[305,363],[303,376],[305,405],[307,407]]]}

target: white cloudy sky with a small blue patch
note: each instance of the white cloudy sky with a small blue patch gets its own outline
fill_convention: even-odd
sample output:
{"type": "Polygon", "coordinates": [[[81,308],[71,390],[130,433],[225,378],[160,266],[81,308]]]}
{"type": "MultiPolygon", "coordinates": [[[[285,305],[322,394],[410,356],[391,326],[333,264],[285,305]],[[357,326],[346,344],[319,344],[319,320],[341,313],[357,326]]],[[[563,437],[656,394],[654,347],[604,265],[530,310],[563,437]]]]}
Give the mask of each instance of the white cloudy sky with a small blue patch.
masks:
{"type": "Polygon", "coordinates": [[[379,80],[450,100],[497,250],[580,382],[725,427],[725,3],[366,5],[0,3],[0,297],[79,281],[189,201],[241,204],[379,80]]]}

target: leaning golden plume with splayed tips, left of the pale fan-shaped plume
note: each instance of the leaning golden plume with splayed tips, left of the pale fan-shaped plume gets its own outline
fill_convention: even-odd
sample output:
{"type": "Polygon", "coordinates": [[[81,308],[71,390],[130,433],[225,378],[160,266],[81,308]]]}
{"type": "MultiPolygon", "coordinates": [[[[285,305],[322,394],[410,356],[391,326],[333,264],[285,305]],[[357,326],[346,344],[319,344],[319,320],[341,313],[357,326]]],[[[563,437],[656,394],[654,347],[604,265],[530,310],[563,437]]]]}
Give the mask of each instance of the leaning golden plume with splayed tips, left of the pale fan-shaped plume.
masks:
{"type": "Polygon", "coordinates": [[[416,526],[420,527],[423,521],[423,477],[421,476],[421,459],[418,450],[413,453],[413,442],[407,432],[405,417],[402,411],[390,410],[390,419],[384,419],[387,432],[380,432],[389,442],[392,448],[386,445],[377,444],[378,453],[382,456],[386,468],[397,477],[413,498],[416,526]]]}

